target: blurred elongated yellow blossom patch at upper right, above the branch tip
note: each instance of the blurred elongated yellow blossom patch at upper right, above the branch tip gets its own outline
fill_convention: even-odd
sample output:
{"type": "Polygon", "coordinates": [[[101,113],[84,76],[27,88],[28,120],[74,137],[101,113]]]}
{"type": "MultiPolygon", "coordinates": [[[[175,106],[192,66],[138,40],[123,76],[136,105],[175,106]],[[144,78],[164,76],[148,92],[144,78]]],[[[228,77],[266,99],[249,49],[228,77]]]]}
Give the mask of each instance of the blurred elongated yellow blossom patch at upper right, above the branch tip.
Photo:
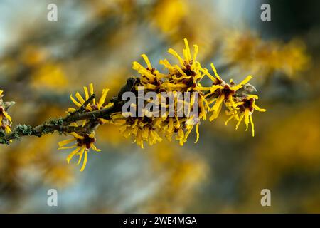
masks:
{"type": "Polygon", "coordinates": [[[259,77],[281,72],[289,77],[297,76],[309,66],[309,56],[302,41],[289,43],[264,41],[250,31],[228,33],[223,45],[223,58],[227,63],[240,66],[259,77]]]}

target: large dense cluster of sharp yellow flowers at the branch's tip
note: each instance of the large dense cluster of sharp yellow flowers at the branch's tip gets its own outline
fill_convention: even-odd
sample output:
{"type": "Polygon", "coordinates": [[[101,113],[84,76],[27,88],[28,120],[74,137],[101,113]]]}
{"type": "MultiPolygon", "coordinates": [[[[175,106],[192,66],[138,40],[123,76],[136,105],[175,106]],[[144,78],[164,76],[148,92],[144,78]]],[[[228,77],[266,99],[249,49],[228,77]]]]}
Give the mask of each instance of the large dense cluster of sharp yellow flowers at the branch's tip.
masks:
{"type": "MultiPolygon", "coordinates": [[[[198,46],[194,45],[193,55],[188,45],[188,41],[184,39],[185,48],[183,49],[183,56],[180,56],[173,49],[169,49],[169,53],[174,56],[178,64],[170,63],[168,60],[161,60],[159,63],[166,68],[167,73],[161,73],[156,68],[151,66],[149,58],[143,54],[142,58],[146,63],[146,67],[142,66],[138,62],[133,63],[133,68],[139,74],[139,80],[135,84],[135,92],[139,88],[144,88],[144,92],[153,91],[158,96],[159,107],[166,105],[166,99],[161,98],[161,92],[188,92],[191,94],[191,99],[175,100],[176,103],[183,103],[188,105],[189,112],[194,108],[196,99],[193,95],[198,95],[198,102],[196,103],[196,109],[198,109],[198,115],[183,115],[178,116],[177,105],[175,105],[174,116],[169,116],[168,113],[161,115],[160,117],[125,117],[122,113],[114,113],[111,115],[112,123],[119,125],[120,131],[126,137],[132,137],[137,145],[144,147],[144,142],[149,142],[149,145],[153,145],[156,142],[160,142],[162,137],[166,137],[171,140],[173,137],[178,140],[180,145],[183,145],[188,139],[188,135],[193,130],[193,126],[196,126],[196,142],[199,137],[199,125],[201,120],[206,120],[207,113],[210,114],[210,121],[218,118],[220,110],[223,104],[228,109],[227,114],[230,118],[227,120],[235,119],[238,121],[236,128],[240,124],[241,120],[245,118],[245,125],[252,124],[252,136],[254,135],[252,113],[253,110],[265,111],[255,105],[257,95],[248,95],[248,92],[255,90],[248,81],[252,76],[247,76],[239,84],[235,84],[233,80],[230,83],[225,83],[215,69],[213,63],[214,76],[212,76],[206,68],[201,67],[196,58],[198,55],[198,46]],[[211,81],[209,86],[203,86],[201,81],[204,77],[208,77],[211,81]],[[190,108],[192,107],[192,108],[190,108]]],[[[154,101],[151,101],[154,102],[154,101]]]]}

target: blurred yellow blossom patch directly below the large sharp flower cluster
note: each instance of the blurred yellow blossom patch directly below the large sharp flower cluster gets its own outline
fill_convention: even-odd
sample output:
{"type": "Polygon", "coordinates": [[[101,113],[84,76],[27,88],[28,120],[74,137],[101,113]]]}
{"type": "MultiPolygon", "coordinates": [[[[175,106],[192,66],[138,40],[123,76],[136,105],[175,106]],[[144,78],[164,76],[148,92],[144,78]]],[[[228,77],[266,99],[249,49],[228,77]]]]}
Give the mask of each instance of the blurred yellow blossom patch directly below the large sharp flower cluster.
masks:
{"type": "Polygon", "coordinates": [[[161,142],[148,155],[161,185],[143,206],[150,213],[180,213],[193,203],[198,187],[207,180],[208,163],[196,152],[161,142]]]}

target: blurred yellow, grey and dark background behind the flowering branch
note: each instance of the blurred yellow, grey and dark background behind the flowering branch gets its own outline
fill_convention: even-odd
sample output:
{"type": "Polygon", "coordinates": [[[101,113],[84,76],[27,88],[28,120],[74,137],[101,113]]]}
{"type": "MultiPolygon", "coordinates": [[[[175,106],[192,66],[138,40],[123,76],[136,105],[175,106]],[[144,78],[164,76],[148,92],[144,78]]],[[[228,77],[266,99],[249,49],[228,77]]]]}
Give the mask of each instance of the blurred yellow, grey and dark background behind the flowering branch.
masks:
{"type": "MultiPolygon", "coordinates": [[[[88,83],[112,95],[146,53],[154,66],[199,46],[220,76],[247,74],[260,96],[256,136],[227,127],[225,115],[203,123],[201,138],[144,150],[117,128],[97,131],[100,153],[80,172],[58,151],[63,135],[0,146],[0,212],[4,213],[292,213],[320,212],[320,1],[1,0],[0,89],[14,100],[14,125],[65,115],[70,93],[88,83]],[[47,6],[58,6],[48,21],[47,6]],[[269,3],[272,21],[261,21],[269,3]],[[47,191],[58,190],[58,207],[47,191]],[[262,207],[260,191],[271,191],[262,207]]],[[[99,93],[98,93],[99,95],[99,93]]]]}

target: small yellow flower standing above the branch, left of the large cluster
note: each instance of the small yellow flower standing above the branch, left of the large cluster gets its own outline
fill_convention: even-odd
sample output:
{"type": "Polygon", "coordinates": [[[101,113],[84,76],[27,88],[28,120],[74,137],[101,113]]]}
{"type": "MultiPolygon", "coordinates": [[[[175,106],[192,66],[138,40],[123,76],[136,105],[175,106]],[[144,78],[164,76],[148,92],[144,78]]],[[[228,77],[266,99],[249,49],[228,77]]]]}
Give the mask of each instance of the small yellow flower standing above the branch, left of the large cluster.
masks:
{"type": "MultiPolygon", "coordinates": [[[[79,92],[75,93],[75,98],[77,98],[77,100],[75,98],[73,98],[73,95],[70,95],[70,99],[73,101],[73,103],[80,108],[86,100],[88,100],[90,98],[90,95],[94,94],[94,90],[93,90],[93,84],[90,83],[89,85],[89,90],[87,88],[87,86],[83,87],[83,90],[85,91],[85,98],[82,97],[82,95],[80,95],[79,92]]],[[[105,88],[102,90],[102,95],[100,97],[99,100],[96,100],[95,98],[87,104],[87,106],[85,107],[85,110],[87,112],[92,112],[94,110],[101,110],[103,108],[110,108],[112,107],[113,103],[107,103],[105,104],[105,99],[107,98],[107,93],[109,92],[108,88],[105,88]]],[[[74,113],[75,112],[75,108],[68,108],[68,113],[74,113]]],[[[102,123],[105,123],[106,120],[103,119],[99,119],[102,123]]],[[[86,124],[86,121],[84,121],[83,125],[86,124]]]]}

